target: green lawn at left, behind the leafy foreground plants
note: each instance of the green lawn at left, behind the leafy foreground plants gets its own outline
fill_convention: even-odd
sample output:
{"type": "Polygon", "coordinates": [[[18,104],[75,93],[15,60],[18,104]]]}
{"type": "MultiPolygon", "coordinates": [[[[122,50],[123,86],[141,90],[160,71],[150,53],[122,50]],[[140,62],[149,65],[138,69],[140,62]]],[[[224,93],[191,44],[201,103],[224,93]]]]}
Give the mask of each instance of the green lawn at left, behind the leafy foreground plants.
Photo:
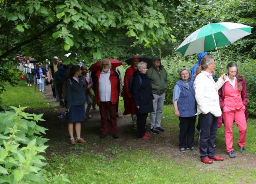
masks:
{"type": "Polygon", "coordinates": [[[42,92],[35,91],[35,86],[28,87],[25,80],[20,80],[16,87],[6,85],[6,91],[0,94],[2,103],[6,106],[28,107],[28,109],[42,109],[45,111],[52,107],[42,92]]]}

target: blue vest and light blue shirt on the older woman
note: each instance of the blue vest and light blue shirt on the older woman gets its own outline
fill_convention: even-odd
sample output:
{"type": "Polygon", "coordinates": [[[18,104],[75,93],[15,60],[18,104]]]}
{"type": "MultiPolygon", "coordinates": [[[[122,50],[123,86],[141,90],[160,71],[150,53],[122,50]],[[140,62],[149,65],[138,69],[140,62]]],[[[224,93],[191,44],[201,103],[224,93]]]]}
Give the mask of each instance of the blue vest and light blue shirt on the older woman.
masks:
{"type": "Polygon", "coordinates": [[[196,114],[196,99],[193,82],[188,80],[189,87],[184,85],[181,80],[176,84],[180,87],[180,97],[178,100],[178,110],[180,117],[193,117],[196,114]]]}

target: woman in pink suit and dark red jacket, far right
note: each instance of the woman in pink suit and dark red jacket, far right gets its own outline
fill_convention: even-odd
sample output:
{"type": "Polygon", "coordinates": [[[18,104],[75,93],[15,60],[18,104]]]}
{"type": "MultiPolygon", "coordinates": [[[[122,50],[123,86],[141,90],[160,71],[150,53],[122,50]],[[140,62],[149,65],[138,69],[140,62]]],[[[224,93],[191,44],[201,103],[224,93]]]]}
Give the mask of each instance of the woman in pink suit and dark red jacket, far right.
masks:
{"type": "Polygon", "coordinates": [[[219,90],[220,107],[225,125],[226,150],[230,158],[236,157],[233,148],[233,123],[239,129],[238,146],[241,153],[245,152],[246,142],[246,117],[248,118],[247,92],[244,77],[238,72],[236,63],[228,63],[226,82],[219,90]]]}

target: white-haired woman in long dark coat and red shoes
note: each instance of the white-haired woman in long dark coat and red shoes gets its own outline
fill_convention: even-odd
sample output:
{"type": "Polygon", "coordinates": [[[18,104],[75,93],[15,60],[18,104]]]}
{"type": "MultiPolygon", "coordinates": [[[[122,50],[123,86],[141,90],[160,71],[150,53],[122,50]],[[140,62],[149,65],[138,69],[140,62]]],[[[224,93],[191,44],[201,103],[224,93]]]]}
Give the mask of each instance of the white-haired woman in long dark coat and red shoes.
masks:
{"type": "Polygon", "coordinates": [[[132,95],[136,107],[138,137],[142,140],[150,140],[150,135],[146,133],[146,120],[148,113],[154,111],[155,101],[152,94],[150,80],[146,75],[147,63],[140,62],[138,70],[134,71],[132,79],[132,95]]]}

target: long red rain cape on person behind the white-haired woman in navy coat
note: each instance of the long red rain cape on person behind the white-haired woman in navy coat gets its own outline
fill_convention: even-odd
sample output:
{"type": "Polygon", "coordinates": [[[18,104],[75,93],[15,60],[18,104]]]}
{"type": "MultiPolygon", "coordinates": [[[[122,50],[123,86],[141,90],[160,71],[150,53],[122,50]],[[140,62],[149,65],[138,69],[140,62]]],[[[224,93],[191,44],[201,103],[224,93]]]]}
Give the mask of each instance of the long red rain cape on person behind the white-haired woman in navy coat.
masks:
{"type": "Polygon", "coordinates": [[[132,94],[129,92],[129,79],[132,77],[133,72],[135,71],[133,66],[130,66],[126,69],[124,75],[124,87],[123,87],[123,99],[124,99],[124,115],[136,114],[134,100],[132,94]],[[129,98],[129,96],[131,98],[129,98]]]}

